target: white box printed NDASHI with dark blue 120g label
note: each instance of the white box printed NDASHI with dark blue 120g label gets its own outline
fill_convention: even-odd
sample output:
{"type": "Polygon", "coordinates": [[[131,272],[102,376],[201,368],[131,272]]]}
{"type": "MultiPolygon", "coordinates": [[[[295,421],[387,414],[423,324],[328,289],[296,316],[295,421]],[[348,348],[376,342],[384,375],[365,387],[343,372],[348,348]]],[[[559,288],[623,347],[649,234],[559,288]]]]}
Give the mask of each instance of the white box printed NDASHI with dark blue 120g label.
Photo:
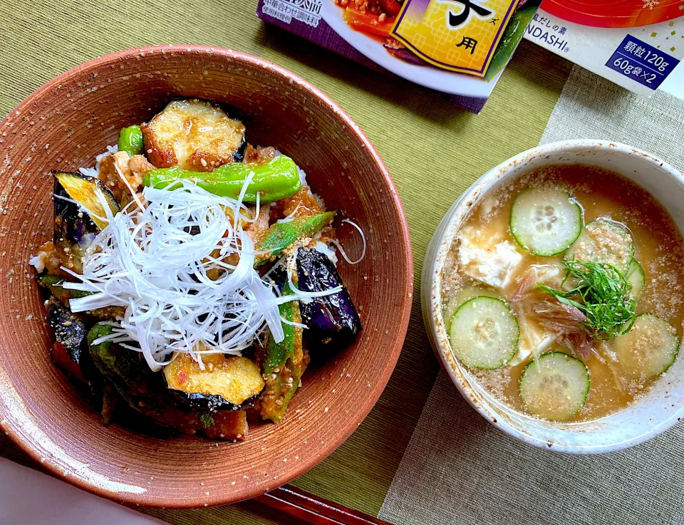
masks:
{"type": "Polygon", "coordinates": [[[525,38],[638,95],[684,98],[684,0],[544,0],[525,38]]]}

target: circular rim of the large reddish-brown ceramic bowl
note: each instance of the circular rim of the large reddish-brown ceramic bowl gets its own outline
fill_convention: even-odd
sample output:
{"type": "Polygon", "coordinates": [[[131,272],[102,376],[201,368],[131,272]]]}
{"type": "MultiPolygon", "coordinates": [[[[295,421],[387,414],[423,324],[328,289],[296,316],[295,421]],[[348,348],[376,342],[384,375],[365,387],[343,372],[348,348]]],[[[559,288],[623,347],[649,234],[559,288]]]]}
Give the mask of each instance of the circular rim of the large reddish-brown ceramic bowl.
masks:
{"type": "MultiPolygon", "coordinates": [[[[339,434],[335,440],[327,442],[326,447],[323,448],[323,452],[321,454],[312,456],[310,459],[306,459],[303,462],[298,462],[296,466],[293,469],[291,469],[291,471],[289,471],[287,474],[278,477],[278,479],[269,479],[266,482],[260,483],[258,486],[250,485],[249,487],[241,489],[240,492],[235,493],[237,494],[237,497],[229,497],[226,495],[222,497],[220,495],[215,496],[214,494],[211,494],[207,497],[197,496],[185,499],[183,501],[179,501],[175,499],[165,500],[158,497],[150,498],[146,495],[147,492],[143,492],[142,494],[135,494],[133,492],[116,492],[115,490],[106,489],[105,487],[101,487],[97,484],[89,482],[87,479],[69,475],[70,473],[65,472],[62,467],[56,464],[56,462],[53,462],[53,459],[51,459],[51,457],[41,456],[41,454],[33,448],[31,442],[28,439],[24,439],[20,432],[16,432],[11,427],[9,417],[3,416],[0,413],[0,430],[5,432],[5,434],[16,445],[18,445],[23,452],[28,454],[28,456],[31,457],[31,459],[33,459],[33,461],[36,462],[36,464],[48,470],[48,472],[50,472],[53,476],[57,477],[58,479],[62,479],[63,481],[75,485],[76,487],[83,489],[86,492],[90,492],[91,494],[112,499],[114,501],[118,501],[120,503],[128,505],[142,505],[148,506],[150,508],[162,509],[195,509],[204,508],[206,506],[217,506],[237,503],[239,501],[244,501],[246,499],[252,499],[261,494],[276,489],[277,487],[281,487],[282,485],[290,482],[292,479],[301,476],[301,474],[304,474],[305,472],[308,472],[316,464],[322,462],[323,459],[326,459],[326,457],[332,454],[344,441],[348,439],[348,437],[350,437],[353,434],[353,432],[358,428],[358,426],[361,425],[361,422],[363,422],[363,420],[366,420],[368,413],[371,412],[371,410],[375,406],[375,403],[378,402],[380,395],[382,395],[383,391],[385,390],[385,387],[387,386],[387,383],[390,380],[390,376],[392,375],[396,367],[399,355],[405,342],[406,333],[408,331],[408,323],[410,321],[410,313],[413,302],[411,300],[411,297],[413,296],[413,246],[411,244],[410,233],[408,229],[408,220],[406,219],[403,204],[399,197],[398,190],[392,180],[392,177],[390,176],[390,173],[385,165],[385,162],[383,162],[382,158],[378,154],[377,150],[375,150],[375,147],[373,146],[371,141],[368,140],[366,133],[363,132],[363,130],[361,130],[359,125],[346,113],[345,110],[343,110],[343,108],[341,108],[340,105],[338,105],[338,103],[333,101],[330,97],[328,97],[328,95],[323,93],[323,91],[316,88],[316,86],[309,83],[308,80],[305,80],[296,73],[292,73],[288,69],[282,66],[278,66],[277,64],[269,60],[266,60],[265,58],[254,56],[249,53],[235,51],[229,48],[221,48],[217,46],[204,46],[196,44],[163,44],[157,46],[128,48],[122,51],[117,51],[115,53],[109,53],[107,55],[91,58],[90,60],[78,64],[77,66],[74,66],[71,69],[68,69],[68,71],[61,73],[60,75],[54,77],[52,80],[48,80],[47,83],[41,85],[40,88],[33,91],[33,93],[24,98],[24,100],[21,100],[19,104],[17,104],[12,110],[9,111],[9,113],[7,113],[7,115],[2,120],[0,120],[0,126],[4,126],[5,123],[9,122],[11,120],[12,115],[19,115],[19,113],[23,113],[24,108],[30,106],[31,103],[33,103],[33,100],[36,100],[36,98],[40,98],[44,93],[48,92],[53,88],[56,88],[60,83],[63,83],[65,80],[71,78],[71,76],[74,76],[77,73],[81,73],[81,71],[83,70],[88,70],[90,68],[93,68],[94,66],[100,66],[101,64],[105,63],[118,63],[119,61],[127,60],[135,56],[142,57],[142,60],[145,60],[145,57],[148,55],[155,55],[157,53],[167,52],[202,53],[206,54],[207,56],[219,56],[222,58],[229,58],[230,60],[237,60],[242,61],[243,63],[249,63],[252,66],[265,70],[267,73],[271,75],[284,78],[284,80],[288,80],[290,84],[298,85],[300,88],[311,93],[311,95],[313,95],[314,98],[321,101],[328,108],[328,110],[330,110],[338,118],[343,120],[343,123],[346,126],[348,126],[351,132],[353,132],[353,134],[356,135],[357,139],[361,141],[362,147],[368,151],[368,154],[371,156],[375,165],[377,165],[380,168],[380,172],[382,172],[385,185],[390,190],[391,197],[389,204],[393,205],[393,207],[395,208],[396,212],[400,217],[400,232],[398,232],[398,234],[400,237],[400,242],[403,245],[403,251],[405,253],[406,286],[405,291],[403,293],[403,309],[401,312],[401,316],[398,319],[398,323],[396,324],[395,330],[395,333],[398,335],[398,338],[396,338],[395,344],[391,348],[389,348],[387,359],[385,360],[385,366],[383,367],[382,372],[379,374],[378,381],[375,383],[375,385],[369,392],[366,391],[366,395],[364,395],[361,400],[358,400],[358,404],[361,405],[361,410],[358,412],[360,415],[358,422],[355,422],[355,424],[352,425],[348,425],[348,429],[346,430],[346,432],[342,432],[341,434],[339,434]]],[[[1,404],[0,407],[2,407],[1,404]]]]}

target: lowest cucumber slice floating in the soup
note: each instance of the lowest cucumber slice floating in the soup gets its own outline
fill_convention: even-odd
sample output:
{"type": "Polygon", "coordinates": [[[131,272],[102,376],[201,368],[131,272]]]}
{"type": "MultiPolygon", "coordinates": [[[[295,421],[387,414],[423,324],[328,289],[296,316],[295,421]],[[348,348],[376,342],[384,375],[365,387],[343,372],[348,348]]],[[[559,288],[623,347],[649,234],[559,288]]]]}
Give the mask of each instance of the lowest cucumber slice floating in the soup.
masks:
{"type": "Polygon", "coordinates": [[[589,394],[589,369],[581,360],[551,352],[529,363],[520,378],[520,398],[530,415],[567,421],[582,410],[589,394]]]}

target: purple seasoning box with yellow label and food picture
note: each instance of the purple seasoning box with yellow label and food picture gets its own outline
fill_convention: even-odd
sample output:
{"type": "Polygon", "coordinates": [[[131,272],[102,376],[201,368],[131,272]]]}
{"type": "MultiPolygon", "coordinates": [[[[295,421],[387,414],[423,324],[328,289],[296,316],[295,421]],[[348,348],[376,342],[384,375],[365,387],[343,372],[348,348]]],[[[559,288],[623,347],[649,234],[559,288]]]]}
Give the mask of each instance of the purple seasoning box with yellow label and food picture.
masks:
{"type": "Polygon", "coordinates": [[[480,113],[541,0],[259,0],[257,16],[480,113]]]}

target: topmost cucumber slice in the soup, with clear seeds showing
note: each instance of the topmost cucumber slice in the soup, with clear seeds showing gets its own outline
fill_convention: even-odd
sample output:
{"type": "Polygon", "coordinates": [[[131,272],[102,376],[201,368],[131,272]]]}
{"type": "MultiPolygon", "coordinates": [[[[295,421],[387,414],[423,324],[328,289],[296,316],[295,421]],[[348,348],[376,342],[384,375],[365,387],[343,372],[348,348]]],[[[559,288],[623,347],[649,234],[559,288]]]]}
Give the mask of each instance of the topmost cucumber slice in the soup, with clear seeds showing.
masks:
{"type": "Polygon", "coordinates": [[[570,195],[557,189],[529,189],[515,198],[511,233],[534,255],[566,251],[582,231],[582,210],[570,195]]]}

